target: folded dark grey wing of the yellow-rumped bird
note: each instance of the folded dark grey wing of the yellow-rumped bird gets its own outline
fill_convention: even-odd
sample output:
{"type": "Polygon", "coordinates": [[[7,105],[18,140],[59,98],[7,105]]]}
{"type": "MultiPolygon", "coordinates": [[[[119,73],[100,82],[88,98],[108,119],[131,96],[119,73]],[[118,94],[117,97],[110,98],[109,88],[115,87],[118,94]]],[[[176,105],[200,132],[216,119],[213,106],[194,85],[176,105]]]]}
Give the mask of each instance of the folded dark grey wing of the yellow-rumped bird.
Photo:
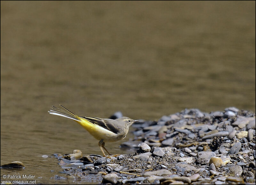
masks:
{"type": "Polygon", "coordinates": [[[119,127],[116,124],[116,120],[111,120],[111,119],[101,119],[101,118],[95,118],[95,117],[82,117],[86,119],[89,122],[92,122],[94,124],[97,124],[104,129],[107,129],[115,134],[118,134],[120,132],[119,127]]]}

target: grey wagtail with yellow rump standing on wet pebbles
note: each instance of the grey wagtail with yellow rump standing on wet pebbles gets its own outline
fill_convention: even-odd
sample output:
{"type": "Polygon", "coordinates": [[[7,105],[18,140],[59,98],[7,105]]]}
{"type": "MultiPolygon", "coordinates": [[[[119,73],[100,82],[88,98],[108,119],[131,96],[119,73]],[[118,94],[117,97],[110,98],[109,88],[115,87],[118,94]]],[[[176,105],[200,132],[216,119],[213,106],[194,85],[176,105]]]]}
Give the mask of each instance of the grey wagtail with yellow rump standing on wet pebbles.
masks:
{"type": "MultiPolygon", "coordinates": [[[[116,142],[124,139],[132,123],[138,122],[138,120],[132,120],[128,117],[121,117],[115,120],[95,117],[80,117],[73,114],[65,107],[61,107],[63,109],[52,106],[48,112],[52,115],[59,115],[78,122],[93,137],[99,140],[100,150],[104,157],[106,157],[106,155],[102,148],[108,152],[105,148],[105,142],[116,142]]],[[[109,152],[108,154],[111,155],[109,152]]]]}

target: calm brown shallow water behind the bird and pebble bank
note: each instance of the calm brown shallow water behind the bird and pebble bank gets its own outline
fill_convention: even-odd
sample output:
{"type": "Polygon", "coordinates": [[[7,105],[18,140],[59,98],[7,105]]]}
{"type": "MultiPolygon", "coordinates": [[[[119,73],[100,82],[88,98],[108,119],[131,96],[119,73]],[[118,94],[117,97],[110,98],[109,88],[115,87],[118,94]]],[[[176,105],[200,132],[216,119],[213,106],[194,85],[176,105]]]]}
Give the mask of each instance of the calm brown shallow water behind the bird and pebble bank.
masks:
{"type": "MultiPolygon", "coordinates": [[[[62,170],[41,157],[101,154],[80,125],[47,113],[59,104],[146,120],[184,108],[255,111],[255,2],[1,1],[1,164],[26,166],[1,169],[1,180],[80,183],[50,179],[62,170]]],[[[122,142],[106,148],[132,152],[122,142]]]]}

